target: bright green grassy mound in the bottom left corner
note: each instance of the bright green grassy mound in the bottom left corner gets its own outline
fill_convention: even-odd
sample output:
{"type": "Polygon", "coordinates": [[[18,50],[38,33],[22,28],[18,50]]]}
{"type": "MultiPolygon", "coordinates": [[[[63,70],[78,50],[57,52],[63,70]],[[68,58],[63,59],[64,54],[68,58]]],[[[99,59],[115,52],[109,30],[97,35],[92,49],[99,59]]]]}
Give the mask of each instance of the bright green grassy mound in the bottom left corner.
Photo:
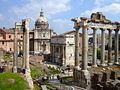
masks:
{"type": "Polygon", "coordinates": [[[27,82],[14,73],[0,73],[0,90],[26,90],[27,82]]]}

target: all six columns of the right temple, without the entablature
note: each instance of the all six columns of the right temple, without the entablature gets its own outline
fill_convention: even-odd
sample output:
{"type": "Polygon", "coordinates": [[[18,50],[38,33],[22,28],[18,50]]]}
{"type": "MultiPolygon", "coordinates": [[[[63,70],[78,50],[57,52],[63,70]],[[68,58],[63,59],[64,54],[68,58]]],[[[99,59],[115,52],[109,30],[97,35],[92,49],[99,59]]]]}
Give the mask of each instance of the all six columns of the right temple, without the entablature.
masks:
{"type": "MultiPolygon", "coordinates": [[[[93,29],[93,61],[92,66],[97,67],[97,28],[93,29]]],[[[87,70],[87,60],[88,60],[88,33],[87,27],[82,27],[82,70],[87,70]]],[[[109,31],[109,41],[108,41],[108,65],[112,65],[112,30],[109,31]]],[[[118,64],[118,50],[119,50],[119,30],[115,30],[115,61],[114,64],[118,64]]],[[[101,66],[105,66],[105,29],[101,29],[101,66]]],[[[75,36],[75,68],[79,68],[79,28],[76,28],[75,36]]]]}

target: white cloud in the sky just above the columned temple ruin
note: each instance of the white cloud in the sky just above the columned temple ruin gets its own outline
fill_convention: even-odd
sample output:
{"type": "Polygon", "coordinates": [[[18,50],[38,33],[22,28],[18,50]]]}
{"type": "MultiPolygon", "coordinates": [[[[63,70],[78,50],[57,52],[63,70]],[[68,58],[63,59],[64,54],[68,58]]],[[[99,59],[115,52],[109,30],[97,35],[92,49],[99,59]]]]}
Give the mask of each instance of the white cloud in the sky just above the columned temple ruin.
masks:
{"type": "Polygon", "coordinates": [[[113,3],[111,5],[107,5],[104,7],[96,7],[92,10],[86,10],[81,14],[81,16],[89,16],[93,12],[103,12],[111,15],[118,15],[120,14],[120,4],[119,3],[113,3]]]}

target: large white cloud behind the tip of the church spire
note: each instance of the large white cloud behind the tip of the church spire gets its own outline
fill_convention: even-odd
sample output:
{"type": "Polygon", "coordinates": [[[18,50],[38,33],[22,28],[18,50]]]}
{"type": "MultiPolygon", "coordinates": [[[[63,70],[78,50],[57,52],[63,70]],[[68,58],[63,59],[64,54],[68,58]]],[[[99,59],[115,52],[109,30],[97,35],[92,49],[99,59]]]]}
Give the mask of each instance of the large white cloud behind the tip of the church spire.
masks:
{"type": "Polygon", "coordinates": [[[53,15],[59,12],[70,10],[70,0],[27,0],[23,7],[14,7],[12,10],[22,18],[36,17],[43,8],[47,14],[53,15]]]}

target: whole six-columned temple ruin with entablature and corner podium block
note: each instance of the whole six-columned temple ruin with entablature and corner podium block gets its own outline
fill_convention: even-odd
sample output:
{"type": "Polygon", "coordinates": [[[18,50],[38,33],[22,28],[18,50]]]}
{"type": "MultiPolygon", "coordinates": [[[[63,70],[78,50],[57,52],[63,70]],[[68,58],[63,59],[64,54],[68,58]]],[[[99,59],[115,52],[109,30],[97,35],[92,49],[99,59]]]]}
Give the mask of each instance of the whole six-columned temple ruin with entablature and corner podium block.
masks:
{"type": "Polygon", "coordinates": [[[74,22],[74,28],[76,30],[75,39],[75,69],[74,79],[79,83],[79,86],[83,88],[90,88],[90,73],[87,70],[88,67],[88,30],[93,30],[93,61],[92,67],[97,67],[97,30],[101,30],[101,60],[100,66],[119,64],[118,51],[119,51],[119,30],[120,23],[112,22],[101,13],[92,13],[91,18],[77,17],[72,19],[74,22]],[[82,64],[80,68],[79,60],[79,30],[82,29],[82,64]],[[108,30],[108,61],[105,63],[105,31],[108,30]],[[112,32],[115,31],[115,58],[112,60],[112,32]]]}

